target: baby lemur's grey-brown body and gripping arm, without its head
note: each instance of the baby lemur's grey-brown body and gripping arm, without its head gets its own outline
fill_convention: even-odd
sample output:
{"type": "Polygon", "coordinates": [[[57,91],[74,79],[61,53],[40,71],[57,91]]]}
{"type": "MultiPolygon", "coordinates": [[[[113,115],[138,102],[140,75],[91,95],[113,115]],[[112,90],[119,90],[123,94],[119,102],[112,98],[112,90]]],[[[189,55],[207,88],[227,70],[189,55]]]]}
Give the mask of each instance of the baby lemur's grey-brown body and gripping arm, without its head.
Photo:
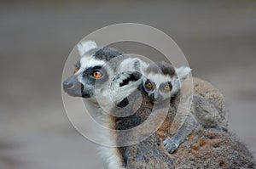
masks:
{"type": "MultiPolygon", "coordinates": [[[[186,93],[186,89],[189,88],[191,84],[189,81],[193,81],[192,105],[189,114],[184,114],[183,111],[177,112],[177,118],[170,129],[173,135],[163,142],[170,153],[173,153],[196,127],[216,128],[219,131],[227,131],[228,128],[228,115],[223,95],[209,82],[199,78],[185,80],[181,87],[183,93],[186,93]]],[[[180,93],[177,93],[171,106],[177,107],[179,97],[180,93]]]]}

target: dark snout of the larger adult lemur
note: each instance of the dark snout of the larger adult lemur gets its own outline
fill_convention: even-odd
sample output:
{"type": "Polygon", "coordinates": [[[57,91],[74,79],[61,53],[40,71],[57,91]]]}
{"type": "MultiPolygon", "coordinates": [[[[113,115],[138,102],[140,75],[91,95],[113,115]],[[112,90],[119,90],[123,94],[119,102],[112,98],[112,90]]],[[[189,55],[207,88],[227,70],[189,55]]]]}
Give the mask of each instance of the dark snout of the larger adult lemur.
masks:
{"type": "Polygon", "coordinates": [[[83,85],[78,81],[76,76],[70,76],[62,82],[63,90],[71,96],[81,96],[83,85]]]}

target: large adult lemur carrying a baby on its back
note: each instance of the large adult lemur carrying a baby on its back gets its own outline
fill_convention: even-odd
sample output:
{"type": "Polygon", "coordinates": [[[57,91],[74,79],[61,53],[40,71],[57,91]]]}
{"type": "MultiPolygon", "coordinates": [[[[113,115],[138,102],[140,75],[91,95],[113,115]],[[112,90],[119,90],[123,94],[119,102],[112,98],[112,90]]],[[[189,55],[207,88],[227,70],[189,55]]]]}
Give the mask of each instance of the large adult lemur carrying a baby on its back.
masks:
{"type": "MultiPolygon", "coordinates": [[[[81,42],[78,48],[81,59],[76,65],[73,75],[63,82],[63,89],[69,95],[86,98],[86,104],[93,108],[93,112],[91,113],[95,114],[98,122],[119,131],[139,126],[150,115],[156,115],[162,118],[163,109],[166,109],[166,107],[164,106],[161,109],[159,106],[156,106],[154,108],[152,99],[148,97],[148,93],[144,92],[143,86],[140,85],[143,82],[143,76],[140,73],[145,66],[143,62],[139,59],[126,58],[117,49],[98,48],[95,42],[81,42]],[[129,116],[117,115],[117,112],[122,114],[122,109],[119,110],[119,107],[136,105],[138,103],[138,98],[132,97],[133,94],[137,93],[135,91],[137,88],[139,88],[143,95],[142,105],[139,110],[129,116]],[[101,104],[97,98],[101,100],[101,104]],[[109,112],[105,113],[104,110],[109,112]]],[[[186,82],[183,82],[183,85],[185,84],[186,82]]],[[[214,87],[198,79],[194,79],[194,84],[195,92],[200,93],[202,97],[209,101],[216,103],[218,105],[217,109],[224,109],[223,96],[214,87]]],[[[133,106],[131,106],[131,111],[133,111],[132,109],[133,106]]],[[[166,110],[168,111],[169,108],[166,110]]],[[[125,112],[128,111],[129,109],[125,109],[125,112]]],[[[232,166],[233,164],[236,164],[235,166],[253,165],[252,156],[247,152],[247,149],[243,145],[240,145],[236,138],[226,132],[214,132],[220,138],[221,143],[212,144],[216,142],[216,136],[214,134],[212,135],[212,132],[210,134],[204,134],[203,132],[195,131],[198,134],[195,133],[195,137],[190,137],[189,141],[185,141],[182,146],[179,146],[176,153],[166,153],[165,148],[162,146],[162,139],[166,138],[166,133],[169,133],[170,121],[175,123],[173,120],[174,115],[175,113],[168,113],[167,120],[161,124],[156,132],[151,133],[149,129],[149,137],[130,146],[118,147],[119,145],[124,145],[124,142],[128,142],[127,145],[129,145],[129,142],[132,141],[129,139],[124,140],[121,134],[117,135],[115,132],[102,133],[101,131],[97,131],[99,135],[102,135],[102,140],[117,146],[100,147],[99,155],[102,156],[102,159],[106,163],[104,166],[108,169],[134,169],[184,168],[184,165],[187,164],[191,166],[185,168],[202,168],[207,167],[207,165],[210,168],[218,168],[223,165],[232,166]],[[201,140],[201,137],[204,137],[202,139],[203,144],[200,142],[198,148],[194,149],[195,144],[198,143],[198,140],[201,140]],[[213,138],[214,142],[210,142],[213,138]],[[226,140],[232,141],[233,144],[222,142],[225,138],[226,140]],[[209,142],[207,141],[208,139],[209,142]],[[234,147],[237,144],[239,146],[234,147]],[[207,151],[204,151],[205,147],[207,147],[207,151]],[[207,161],[207,163],[206,156],[204,155],[210,158],[210,161],[207,161]]],[[[155,125],[154,121],[151,122],[153,127],[155,125]]],[[[156,124],[156,126],[158,125],[156,124]]],[[[133,138],[133,135],[148,135],[148,128],[145,128],[141,132],[131,131],[127,132],[127,134],[131,138],[133,138]]]]}

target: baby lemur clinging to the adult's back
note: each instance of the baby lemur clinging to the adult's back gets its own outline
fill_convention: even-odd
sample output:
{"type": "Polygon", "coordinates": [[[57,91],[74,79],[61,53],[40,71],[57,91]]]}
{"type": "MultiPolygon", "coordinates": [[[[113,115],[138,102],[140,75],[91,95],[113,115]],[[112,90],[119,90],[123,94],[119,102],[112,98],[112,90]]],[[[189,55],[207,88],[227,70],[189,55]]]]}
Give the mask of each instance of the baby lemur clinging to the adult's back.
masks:
{"type": "Polygon", "coordinates": [[[202,93],[197,90],[201,88],[199,85],[205,84],[198,82],[200,80],[197,78],[193,78],[195,81],[194,94],[187,98],[188,101],[192,101],[190,112],[177,111],[181,99],[181,90],[186,93],[189,85],[193,84],[189,82],[189,80],[192,80],[189,79],[189,73],[189,67],[176,69],[171,64],[163,61],[148,65],[146,70],[143,71],[143,89],[148,94],[148,98],[154,104],[170,103],[171,107],[168,114],[176,115],[174,120],[169,118],[169,120],[172,120],[169,121],[172,125],[170,124],[168,126],[170,128],[167,129],[169,133],[163,133],[166,137],[163,140],[163,145],[169,153],[173,153],[196,126],[214,127],[219,130],[227,130],[228,127],[226,110],[224,107],[219,107],[220,105],[224,106],[224,104],[218,104],[219,101],[224,102],[224,100],[216,100],[220,97],[214,98],[211,94],[207,96],[209,93],[202,93]],[[173,135],[172,132],[174,132],[173,135]]]}

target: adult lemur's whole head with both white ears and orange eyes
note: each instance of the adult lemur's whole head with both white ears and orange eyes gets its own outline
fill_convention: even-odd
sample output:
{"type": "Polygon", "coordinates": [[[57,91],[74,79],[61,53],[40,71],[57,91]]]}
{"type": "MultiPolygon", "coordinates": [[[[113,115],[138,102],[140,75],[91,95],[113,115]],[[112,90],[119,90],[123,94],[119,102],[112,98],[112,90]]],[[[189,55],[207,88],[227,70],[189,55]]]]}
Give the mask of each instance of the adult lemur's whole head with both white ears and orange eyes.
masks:
{"type": "MultiPolygon", "coordinates": [[[[125,56],[115,48],[97,48],[95,42],[82,42],[81,59],[73,75],[63,82],[66,93],[75,97],[109,99],[119,102],[136,90],[142,80],[142,60],[125,56]]],[[[104,100],[104,101],[105,101],[104,100]]]]}

